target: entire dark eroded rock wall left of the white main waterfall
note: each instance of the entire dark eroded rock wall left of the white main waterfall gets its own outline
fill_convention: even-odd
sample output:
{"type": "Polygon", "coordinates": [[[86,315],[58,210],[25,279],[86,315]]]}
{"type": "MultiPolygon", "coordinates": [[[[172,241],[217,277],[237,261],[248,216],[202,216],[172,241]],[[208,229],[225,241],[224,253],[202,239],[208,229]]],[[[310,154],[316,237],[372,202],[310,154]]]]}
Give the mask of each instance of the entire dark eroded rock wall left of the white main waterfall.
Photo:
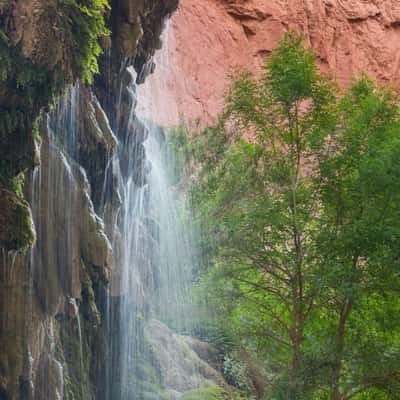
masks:
{"type": "Polygon", "coordinates": [[[0,43],[1,55],[22,68],[2,71],[0,80],[1,400],[109,398],[105,318],[120,206],[109,167],[113,132],[138,136],[138,146],[143,140],[127,112],[135,101],[127,69],[135,68],[139,80],[153,70],[177,0],[110,3],[112,34],[102,39],[92,86],[76,83],[77,47],[68,36],[76,26],[62,8],[67,2],[0,4],[9,40],[0,43]],[[32,75],[20,75],[27,71],[32,75]],[[22,251],[35,234],[36,244],[22,251]]]}

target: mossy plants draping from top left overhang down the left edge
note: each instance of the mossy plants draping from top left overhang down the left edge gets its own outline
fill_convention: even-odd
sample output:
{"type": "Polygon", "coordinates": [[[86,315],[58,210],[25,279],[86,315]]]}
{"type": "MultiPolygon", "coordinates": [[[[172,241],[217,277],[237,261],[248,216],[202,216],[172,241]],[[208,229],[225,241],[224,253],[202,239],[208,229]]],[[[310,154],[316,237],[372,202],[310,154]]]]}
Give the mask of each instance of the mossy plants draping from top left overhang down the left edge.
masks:
{"type": "MultiPolygon", "coordinates": [[[[13,37],[13,7],[17,5],[12,2],[0,4],[0,189],[23,198],[21,177],[38,163],[39,114],[66,84],[77,79],[92,82],[98,72],[99,39],[109,34],[109,6],[107,0],[42,2],[36,35],[48,35],[48,40],[43,44],[43,38],[34,37],[37,48],[30,55],[24,53],[23,38],[13,37]]],[[[14,243],[11,249],[20,249],[19,241],[14,243]]]]}

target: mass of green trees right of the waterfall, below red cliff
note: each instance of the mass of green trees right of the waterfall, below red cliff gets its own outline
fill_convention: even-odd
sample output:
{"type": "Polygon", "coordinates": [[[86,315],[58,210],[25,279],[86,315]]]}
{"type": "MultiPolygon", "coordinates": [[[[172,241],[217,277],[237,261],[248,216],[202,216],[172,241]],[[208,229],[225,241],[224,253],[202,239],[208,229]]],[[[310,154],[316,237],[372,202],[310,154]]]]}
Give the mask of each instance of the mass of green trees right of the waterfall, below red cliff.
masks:
{"type": "Polygon", "coordinates": [[[341,92],[293,32],[231,80],[214,126],[175,132],[200,297],[257,398],[399,399],[398,97],[365,76],[341,92]]]}

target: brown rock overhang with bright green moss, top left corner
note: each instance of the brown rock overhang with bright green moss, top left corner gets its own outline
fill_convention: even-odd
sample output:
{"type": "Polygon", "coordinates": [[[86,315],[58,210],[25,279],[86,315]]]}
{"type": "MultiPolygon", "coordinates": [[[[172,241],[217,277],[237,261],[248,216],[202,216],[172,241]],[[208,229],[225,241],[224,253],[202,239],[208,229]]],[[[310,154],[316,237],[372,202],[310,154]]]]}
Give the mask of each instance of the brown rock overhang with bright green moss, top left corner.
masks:
{"type": "Polygon", "coordinates": [[[108,34],[108,0],[16,0],[3,7],[3,37],[21,56],[66,80],[91,81],[100,37],[108,34]]]}

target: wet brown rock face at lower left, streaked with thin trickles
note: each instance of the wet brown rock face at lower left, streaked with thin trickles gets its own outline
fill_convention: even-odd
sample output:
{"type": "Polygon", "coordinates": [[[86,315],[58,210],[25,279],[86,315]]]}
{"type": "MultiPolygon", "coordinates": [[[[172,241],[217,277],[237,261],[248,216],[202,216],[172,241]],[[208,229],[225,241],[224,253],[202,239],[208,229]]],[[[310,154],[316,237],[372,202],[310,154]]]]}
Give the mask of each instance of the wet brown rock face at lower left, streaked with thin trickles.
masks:
{"type": "Polygon", "coordinates": [[[42,164],[25,188],[35,246],[27,254],[0,253],[0,388],[8,400],[91,398],[105,358],[111,247],[86,174],[62,139],[50,123],[41,126],[42,164]]]}

